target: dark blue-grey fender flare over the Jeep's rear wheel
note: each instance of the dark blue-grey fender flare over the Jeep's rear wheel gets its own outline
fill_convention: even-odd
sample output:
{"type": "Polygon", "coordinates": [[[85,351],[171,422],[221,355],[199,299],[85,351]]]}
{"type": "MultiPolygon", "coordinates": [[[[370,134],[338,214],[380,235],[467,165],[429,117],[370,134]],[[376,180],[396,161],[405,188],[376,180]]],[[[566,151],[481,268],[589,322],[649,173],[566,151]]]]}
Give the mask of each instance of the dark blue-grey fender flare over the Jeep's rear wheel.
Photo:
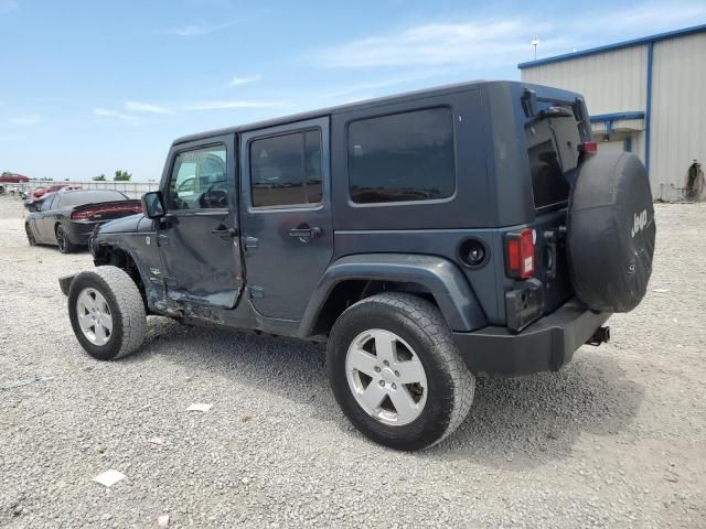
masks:
{"type": "Polygon", "coordinates": [[[488,325],[471,285],[458,267],[438,256],[366,253],[334,261],[314,290],[299,326],[300,337],[325,335],[338,316],[364,298],[409,292],[439,307],[452,331],[488,325]]]}

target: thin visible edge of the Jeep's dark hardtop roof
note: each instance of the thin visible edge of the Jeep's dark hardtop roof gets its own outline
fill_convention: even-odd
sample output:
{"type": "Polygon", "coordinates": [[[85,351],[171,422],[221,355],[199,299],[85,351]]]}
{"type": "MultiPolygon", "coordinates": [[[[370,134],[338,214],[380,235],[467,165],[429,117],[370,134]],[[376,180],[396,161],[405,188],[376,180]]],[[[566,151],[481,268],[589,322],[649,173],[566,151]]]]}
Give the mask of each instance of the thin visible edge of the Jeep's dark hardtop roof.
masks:
{"type": "Polygon", "coordinates": [[[225,134],[232,134],[235,132],[243,132],[243,131],[249,131],[249,130],[257,130],[257,129],[264,129],[267,127],[276,127],[278,125],[287,125],[287,123],[291,123],[293,121],[303,121],[306,119],[314,119],[314,118],[320,118],[323,116],[329,116],[329,115],[333,115],[333,114],[341,114],[341,112],[347,112],[347,111],[352,111],[352,110],[360,110],[363,108],[370,108],[370,107],[382,107],[385,105],[392,105],[392,104],[398,104],[398,102],[405,102],[408,100],[415,100],[415,99],[421,99],[425,97],[435,97],[435,96],[440,96],[443,94],[452,94],[452,93],[457,93],[457,91],[467,91],[469,89],[473,89],[473,88],[480,88],[482,86],[489,86],[489,85],[523,85],[523,86],[527,86],[526,83],[522,83],[518,80],[473,80],[473,82],[467,82],[467,83],[457,83],[457,84],[452,84],[452,85],[445,85],[445,86],[438,86],[435,88],[425,88],[421,90],[414,90],[414,91],[407,91],[404,94],[396,94],[394,96],[385,96],[385,97],[378,97],[375,99],[366,99],[363,101],[355,101],[355,102],[349,102],[345,105],[338,105],[334,107],[329,107],[329,108],[321,108],[318,110],[309,110],[306,112],[300,112],[300,114],[295,114],[291,116],[285,116],[281,118],[274,118],[274,119],[268,119],[268,120],[264,120],[264,121],[256,121],[254,123],[247,123],[247,125],[239,125],[239,126],[235,126],[235,127],[226,127],[224,129],[216,129],[216,130],[210,130],[210,131],[205,131],[205,132],[199,132],[195,134],[189,134],[189,136],[183,136],[181,138],[178,138],[176,140],[174,140],[174,142],[172,143],[173,145],[176,145],[179,143],[185,143],[189,141],[197,141],[197,140],[204,140],[207,138],[212,138],[212,137],[216,137],[216,136],[225,136],[225,134]]]}

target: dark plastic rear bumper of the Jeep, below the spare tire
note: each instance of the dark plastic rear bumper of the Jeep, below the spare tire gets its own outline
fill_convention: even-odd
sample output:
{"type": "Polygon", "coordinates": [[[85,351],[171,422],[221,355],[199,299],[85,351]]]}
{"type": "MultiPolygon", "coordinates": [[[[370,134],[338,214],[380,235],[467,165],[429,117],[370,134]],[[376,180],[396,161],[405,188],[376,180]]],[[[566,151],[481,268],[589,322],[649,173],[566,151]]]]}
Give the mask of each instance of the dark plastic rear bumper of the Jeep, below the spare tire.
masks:
{"type": "Polygon", "coordinates": [[[610,317],[593,313],[573,300],[521,333],[506,327],[484,327],[453,333],[456,344],[474,373],[522,375],[556,371],[610,317]]]}

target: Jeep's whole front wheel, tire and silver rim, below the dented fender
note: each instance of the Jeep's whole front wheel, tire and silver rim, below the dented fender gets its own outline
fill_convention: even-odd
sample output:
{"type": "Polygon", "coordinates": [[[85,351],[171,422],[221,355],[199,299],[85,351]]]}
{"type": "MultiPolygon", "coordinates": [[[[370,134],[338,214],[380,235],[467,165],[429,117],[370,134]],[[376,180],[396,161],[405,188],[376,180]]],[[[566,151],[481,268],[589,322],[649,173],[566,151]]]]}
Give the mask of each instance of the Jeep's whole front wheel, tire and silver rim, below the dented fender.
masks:
{"type": "Polygon", "coordinates": [[[142,295],[132,278],[117,267],[97,267],[74,278],[68,319],[82,347],[99,360],[127,356],[145,339],[142,295]]]}

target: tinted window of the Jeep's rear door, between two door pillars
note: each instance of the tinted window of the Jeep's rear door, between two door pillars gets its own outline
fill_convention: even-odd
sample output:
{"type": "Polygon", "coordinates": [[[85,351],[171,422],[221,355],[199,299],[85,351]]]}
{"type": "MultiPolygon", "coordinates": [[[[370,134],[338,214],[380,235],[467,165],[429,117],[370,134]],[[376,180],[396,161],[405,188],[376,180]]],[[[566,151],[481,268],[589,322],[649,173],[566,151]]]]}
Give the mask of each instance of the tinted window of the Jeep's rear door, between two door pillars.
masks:
{"type": "Polygon", "coordinates": [[[254,207],[321,203],[321,132],[318,129],[254,140],[249,156],[254,207]]]}

